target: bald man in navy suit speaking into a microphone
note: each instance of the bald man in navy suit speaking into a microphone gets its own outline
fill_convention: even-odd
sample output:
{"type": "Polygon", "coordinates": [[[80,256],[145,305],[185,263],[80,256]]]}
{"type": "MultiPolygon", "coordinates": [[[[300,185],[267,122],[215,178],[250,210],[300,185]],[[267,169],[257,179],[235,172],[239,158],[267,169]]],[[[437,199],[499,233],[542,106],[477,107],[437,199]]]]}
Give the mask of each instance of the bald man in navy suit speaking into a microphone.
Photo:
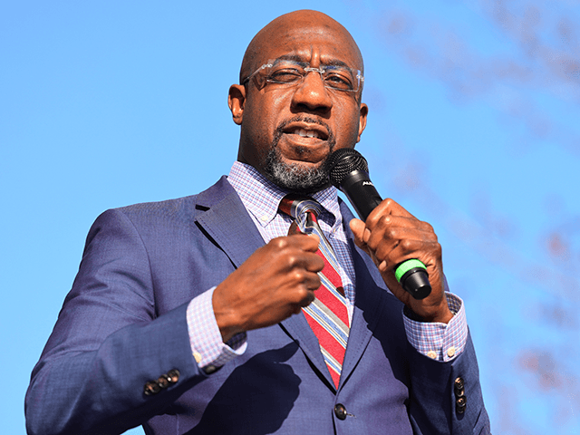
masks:
{"type": "Polygon", "coordinates": [[[285,14],[256,34],[229,90],[241,126],[229,177],[97,219],[34,368],[29,433],[488,433],[432,228],[390,199],[354,219],[328,185],[326,158],[366,125],[362,71],[352,36],[324,14],[285,14]],[[286,236],[288,192],[322,205],[310,223],[324,236],[286,236]],[[323,238],[346,313],[337,369],[306,318],[328,272],[323,238]],[[427,266],[425,299],[394,278],[408,258],[427,266]]]}

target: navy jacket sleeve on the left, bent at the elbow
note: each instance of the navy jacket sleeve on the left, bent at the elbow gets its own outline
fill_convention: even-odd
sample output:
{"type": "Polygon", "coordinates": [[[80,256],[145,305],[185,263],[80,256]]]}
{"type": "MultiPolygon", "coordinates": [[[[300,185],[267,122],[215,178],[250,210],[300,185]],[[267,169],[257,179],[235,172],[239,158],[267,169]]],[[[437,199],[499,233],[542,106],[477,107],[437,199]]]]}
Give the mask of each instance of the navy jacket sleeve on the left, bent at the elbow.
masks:
{"type": "Polygon", "coordinates": [[[149,260],[121,211],[95,221],[73,289],[32,373],[25,399],[29,434],[121,433],[205,379],[190,350],[187,302],[156,313],[149,260]],[[168,372],[171,382],[144,393],[147,382],[168,372]]]}

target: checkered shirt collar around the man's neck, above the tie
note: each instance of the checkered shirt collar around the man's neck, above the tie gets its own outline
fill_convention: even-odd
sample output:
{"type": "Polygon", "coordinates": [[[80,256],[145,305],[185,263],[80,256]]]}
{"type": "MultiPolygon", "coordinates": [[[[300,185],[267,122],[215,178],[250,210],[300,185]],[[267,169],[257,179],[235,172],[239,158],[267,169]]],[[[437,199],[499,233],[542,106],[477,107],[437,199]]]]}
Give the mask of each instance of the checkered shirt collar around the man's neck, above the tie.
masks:
{"type": "MultiPolygon", "coordinates": [[[[266,179],[256,168],[240,161],[234,162],[227,180],[237,191],[244,207],[263,227],[275,218],[280,201],[289,193],[266,179]]],[[[342,225],[343,218],[338,205],[338,195],[333,186],[319,190],[310,197],[323,206],[324,212],[319,218],[325,219],[333,227],[333,231],[342,225]]]]}

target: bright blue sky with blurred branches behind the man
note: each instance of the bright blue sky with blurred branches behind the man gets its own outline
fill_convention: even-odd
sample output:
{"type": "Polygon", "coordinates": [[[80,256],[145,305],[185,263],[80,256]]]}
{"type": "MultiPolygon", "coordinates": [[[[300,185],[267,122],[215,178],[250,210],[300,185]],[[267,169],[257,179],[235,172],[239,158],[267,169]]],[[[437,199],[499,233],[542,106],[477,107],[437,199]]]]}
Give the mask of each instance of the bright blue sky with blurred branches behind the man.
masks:
{"type": "Polygon", "coordinates": [[[358,150],[382,196],[440,237],[493,432],[580,433],[577,0],[3,2],[3,433],[25,432],[30,372],[94,218],[227,173],[247,43],[301,8],[361,47],[358,150]]]}

